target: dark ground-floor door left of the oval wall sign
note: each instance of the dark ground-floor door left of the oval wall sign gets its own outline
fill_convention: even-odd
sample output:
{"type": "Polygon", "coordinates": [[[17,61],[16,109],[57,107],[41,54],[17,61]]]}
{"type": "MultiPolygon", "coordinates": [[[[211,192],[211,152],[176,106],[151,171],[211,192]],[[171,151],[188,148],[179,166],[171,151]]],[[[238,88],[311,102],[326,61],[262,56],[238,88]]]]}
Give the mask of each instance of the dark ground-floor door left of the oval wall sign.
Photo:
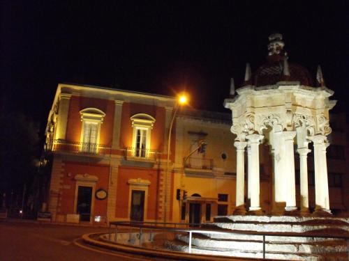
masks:
{"type": "Polygon", "coordinates": [[[91,217],[92,187],[79,186],[77,189],[77,214],[80,221],[90,221],[91,217]]]}

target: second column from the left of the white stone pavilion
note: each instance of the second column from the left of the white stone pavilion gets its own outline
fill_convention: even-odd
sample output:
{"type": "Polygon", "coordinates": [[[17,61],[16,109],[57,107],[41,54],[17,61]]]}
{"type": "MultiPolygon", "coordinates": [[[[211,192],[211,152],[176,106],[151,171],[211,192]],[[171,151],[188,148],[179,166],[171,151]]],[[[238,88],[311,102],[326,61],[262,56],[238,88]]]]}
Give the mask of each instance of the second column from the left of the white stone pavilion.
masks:
{"type": "Polygon", "coordinates": [[[260,158],[259,158],[259,145],[260,140],[264,136],[259,134],[251,134],[246,136],[251,147],[251,161],[248,162],[248,166],[251,166],[250,184],[251,184],[251,205],[250,211],[261,212],[260,209],[260,158]]]}

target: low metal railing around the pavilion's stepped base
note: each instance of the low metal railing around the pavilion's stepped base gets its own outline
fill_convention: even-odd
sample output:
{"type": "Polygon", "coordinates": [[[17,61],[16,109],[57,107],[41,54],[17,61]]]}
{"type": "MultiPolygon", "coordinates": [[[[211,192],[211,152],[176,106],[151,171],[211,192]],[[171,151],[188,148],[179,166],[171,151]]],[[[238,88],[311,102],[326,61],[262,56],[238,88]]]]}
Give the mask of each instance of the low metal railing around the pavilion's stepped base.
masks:
{"type": "MultiPolygon", "coordinates": [[[[138,239],[140,240],[139,244],[141,246],[142,242],[142,233],[144,229],[147,229],[152,233],[153,230],[163,230],[166,232],[187,232],[189,235],[188,240],[188,252],[191,253],[191,242],[193,233],[204,233],[204,234],[239,234],[239,235],[256,235],[261,237],[261,244],[262,244],[262,253],[263,258],[265,258],[265,242],[266,237],[315,237],[315,238],[332,238],[332,239],[345,239],[347,242],[347,251],[349,255],[349,237],[346,235],[339,236],[339,235],[318,235],[316,232],[306,232],[306,234],[299,234],[294,232],[251,232],[251,231],[242,231],[242,230],[229,230],[229,229],[220,229],[220,230],[214,230],[210,228],[202,228],[202,225],[207,225],[207,223],[163,223],[163,222],[142,222],[142,221],[115,221],[110,222],[109,225],[109,233],[108,237],[111,241],[111,235],[112,235],[112,226],[114,226],[114,232],[115,237],[114,240],[117,241],[117,233],[118,233],[118,226],[126,226],[130,228],[138,228],[139,234],[138,239]],[[170,227],[166,226],[170,225],[170,227]],[[196,226],[196,228],[194,228],[196,226]],[[193,227],[193,228],[189,228],[193,227]],[[198,228],[201,227],[201,228],[198,228]]],[[[131,230],[132,232],[132,230],[131,230]]]]}

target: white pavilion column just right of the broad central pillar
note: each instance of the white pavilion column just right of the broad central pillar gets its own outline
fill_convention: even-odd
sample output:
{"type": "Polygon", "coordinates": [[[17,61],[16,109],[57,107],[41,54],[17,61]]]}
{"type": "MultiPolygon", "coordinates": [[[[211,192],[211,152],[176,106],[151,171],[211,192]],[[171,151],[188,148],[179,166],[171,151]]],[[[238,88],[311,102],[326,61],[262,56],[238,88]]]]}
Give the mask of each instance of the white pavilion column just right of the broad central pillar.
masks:
{"type": "Polygon", "coordinates": [[[295,155],[293,151],[293,139],[296,132],[283,132],[283,139],[285,141],[285,157],[284,157],[284,172],[285,172],[285,193],[286,211],[297,210],[296,205],[296,180],[295,180],[295,155]]]}

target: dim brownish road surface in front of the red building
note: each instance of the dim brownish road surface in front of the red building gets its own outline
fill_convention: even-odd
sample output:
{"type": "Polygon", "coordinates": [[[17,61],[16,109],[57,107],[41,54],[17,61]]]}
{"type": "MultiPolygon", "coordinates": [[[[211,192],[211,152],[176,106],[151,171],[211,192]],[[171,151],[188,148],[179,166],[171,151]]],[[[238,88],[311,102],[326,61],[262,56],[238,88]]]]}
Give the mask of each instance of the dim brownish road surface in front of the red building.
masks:
{"type": "Polygon", "coordinates": [[[154,260],[139,255],[81,246],[81,235],[103,231],[107,232],[107,228],[0,221],[0,261],[154,260]]]}

